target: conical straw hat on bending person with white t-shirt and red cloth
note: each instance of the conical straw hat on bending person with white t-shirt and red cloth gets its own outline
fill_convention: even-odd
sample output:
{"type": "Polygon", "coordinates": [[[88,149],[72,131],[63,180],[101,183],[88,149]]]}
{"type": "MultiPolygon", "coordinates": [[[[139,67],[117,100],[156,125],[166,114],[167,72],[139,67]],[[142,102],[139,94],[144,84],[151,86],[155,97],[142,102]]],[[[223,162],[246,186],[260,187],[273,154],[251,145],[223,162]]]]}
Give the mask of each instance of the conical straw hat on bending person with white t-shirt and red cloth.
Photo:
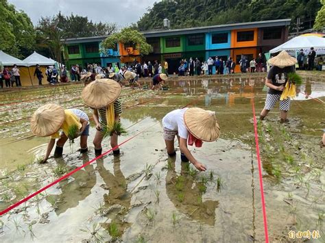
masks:
{"type": "Polygon", "coordinates": [[[215,112],[201,108],[189,108],[184,113],[184,122],[189,132],[200,140],[211,142],[219,138],[220,127],[215,112]]]}

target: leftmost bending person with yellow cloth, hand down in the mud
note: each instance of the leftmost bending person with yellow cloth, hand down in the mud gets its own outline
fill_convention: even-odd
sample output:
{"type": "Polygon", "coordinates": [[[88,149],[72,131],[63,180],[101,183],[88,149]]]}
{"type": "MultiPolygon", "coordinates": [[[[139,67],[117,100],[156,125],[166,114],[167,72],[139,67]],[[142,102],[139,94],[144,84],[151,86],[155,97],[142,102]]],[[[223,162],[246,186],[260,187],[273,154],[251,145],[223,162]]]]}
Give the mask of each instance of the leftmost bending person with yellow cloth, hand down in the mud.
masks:
{"type": "Polygon", "coordinates": [[[54,157],[62,156],[63,146],[68,138],[73,141],[80,136],[80,153],[88,151],[89,118],[81,110],[64,110],[56,104],[43,105],[32,116],[31,130],[36,136],[51,136],[43,163],[49,158],[55,143],[54,157]],[[62,133],[59,133],[60,129],[62,129],[62,133]]]}

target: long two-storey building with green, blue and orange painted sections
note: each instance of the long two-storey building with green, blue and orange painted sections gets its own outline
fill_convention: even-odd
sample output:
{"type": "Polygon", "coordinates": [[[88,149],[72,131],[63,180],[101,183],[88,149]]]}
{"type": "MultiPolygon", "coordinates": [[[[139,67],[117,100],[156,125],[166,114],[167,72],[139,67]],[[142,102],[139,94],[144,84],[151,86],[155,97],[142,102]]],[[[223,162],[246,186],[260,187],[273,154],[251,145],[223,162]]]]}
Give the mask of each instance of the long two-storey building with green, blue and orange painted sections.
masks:
{"type": "MultiPolygon", "coordinates": [[[[209,56],[232,57],[239,63],[241,55],[252,60],[258,53],[268,52],[288,39],[290,19],[232,23],[186,29],[163,29],[143,31],[153,51],[141,56],[134,47],[119,43],[115,49],[100,53],[100,43],[106,36],[73,38],[64,40],[64,59],[71,64],[147,62],[158,60],[169,63],[169,73],[177,73],[180,60],[197,57],[200,61],[209,56]]],[[[236,70],[239,71],[239,65],[236,70]]]]}

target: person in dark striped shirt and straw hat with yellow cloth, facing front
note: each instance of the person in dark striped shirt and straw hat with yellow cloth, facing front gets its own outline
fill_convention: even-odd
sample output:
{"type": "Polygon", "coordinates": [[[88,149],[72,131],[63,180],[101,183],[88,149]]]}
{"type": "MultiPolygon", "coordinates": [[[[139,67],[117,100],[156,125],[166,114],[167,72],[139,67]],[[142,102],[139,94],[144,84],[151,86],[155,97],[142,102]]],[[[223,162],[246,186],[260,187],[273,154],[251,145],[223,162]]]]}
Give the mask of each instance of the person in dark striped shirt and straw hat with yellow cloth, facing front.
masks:
{"type": "MultiPolygon", "coordinates": [[[[104,139],[105,129],[120,122],[122,114],[121,101],[118,99],[120,94],[121,86],[112,79],[96,79],[82,90],[84,103],[93,109],[97,129],[93,140],[96,156],[101,155],[101,141],[104,139]]],[[[118,135],[115,132],[110,136],[110,146],[112,146],[114,155],[120,153],[118,135]]]]}

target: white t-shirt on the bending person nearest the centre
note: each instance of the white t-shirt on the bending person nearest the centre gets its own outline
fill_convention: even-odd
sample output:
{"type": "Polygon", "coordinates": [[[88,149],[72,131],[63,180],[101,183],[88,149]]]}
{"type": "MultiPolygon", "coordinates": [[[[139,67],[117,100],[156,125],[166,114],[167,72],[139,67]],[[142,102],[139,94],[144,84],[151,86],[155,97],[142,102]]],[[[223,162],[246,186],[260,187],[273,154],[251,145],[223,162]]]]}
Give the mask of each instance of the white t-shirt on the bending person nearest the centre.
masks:
{"type": "Polygon", "coordinates": [[[163,126],[171,131],[178,131],[178,136],[184,139],[189,136],[189,131],[187,131],[184,122],[184,113],[187,109],[173,110],[163,118],[163,126]]]}

